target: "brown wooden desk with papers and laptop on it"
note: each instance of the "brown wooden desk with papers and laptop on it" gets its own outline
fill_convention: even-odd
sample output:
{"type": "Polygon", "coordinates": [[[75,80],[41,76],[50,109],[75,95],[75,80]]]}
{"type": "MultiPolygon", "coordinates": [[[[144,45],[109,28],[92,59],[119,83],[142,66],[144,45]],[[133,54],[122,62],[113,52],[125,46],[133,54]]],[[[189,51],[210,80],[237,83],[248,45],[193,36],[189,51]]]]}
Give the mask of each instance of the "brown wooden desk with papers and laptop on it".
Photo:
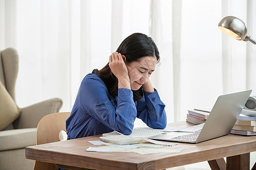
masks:
{"type": "MultiPolygon", "coordinates": [[[[178,125],[191,124],[183,122],[178,125]]],[[[26,147],[26,158],[54,163],[57,167],[67,169],[166,169],[204,161],[208,161],[214,169],[216,165],[223,168],[225,163],[221,158],[227,157],[227,169],[249,169],[250,152],[256,151],[256,136],[233,134],[197,144],[166,146],[182,149],[179,154],[86,151],[89,147],[97,147],[87,141],[99,140],[100,136],[26,147]]]]}

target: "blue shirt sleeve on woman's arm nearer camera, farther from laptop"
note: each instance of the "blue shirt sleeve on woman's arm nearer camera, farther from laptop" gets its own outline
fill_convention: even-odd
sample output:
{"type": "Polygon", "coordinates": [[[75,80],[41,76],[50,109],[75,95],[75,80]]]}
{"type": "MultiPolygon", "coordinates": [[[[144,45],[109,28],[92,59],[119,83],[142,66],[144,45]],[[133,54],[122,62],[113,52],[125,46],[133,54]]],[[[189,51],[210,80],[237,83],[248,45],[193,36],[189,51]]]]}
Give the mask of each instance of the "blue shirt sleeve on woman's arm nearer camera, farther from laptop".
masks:
{"type": "Polygon", "coordinates": [[[122,134],[131,134],[137,116],[131,90],[118,89],[118,101],[115,107],[104,82],[97,75],[91,75],[82,81],[78,95],[84,112],[113,130],[122,134]]]}

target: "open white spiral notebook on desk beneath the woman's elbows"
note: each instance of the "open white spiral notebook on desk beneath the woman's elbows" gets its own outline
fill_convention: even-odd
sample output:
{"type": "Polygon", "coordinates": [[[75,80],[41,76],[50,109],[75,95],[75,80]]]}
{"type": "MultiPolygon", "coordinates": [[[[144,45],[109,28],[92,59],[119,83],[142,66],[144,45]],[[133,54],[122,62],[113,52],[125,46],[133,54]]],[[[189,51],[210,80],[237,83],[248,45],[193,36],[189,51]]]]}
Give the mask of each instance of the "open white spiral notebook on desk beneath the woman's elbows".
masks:
{"type": "MultiPolygon", "coordinates": [[[[134,128],[133,132],[129,135],[130,137],[134,138],[149,138],[153,137],[155,135],[163,134],[165,133],[164,131],[160,130],[154,130],[152,128],[134,128]]],[[[110,135],[118,135],[121,134],[117,131],[112,131],[110,133],[104,133],[102,136],[110,136],[110,135]]]]}

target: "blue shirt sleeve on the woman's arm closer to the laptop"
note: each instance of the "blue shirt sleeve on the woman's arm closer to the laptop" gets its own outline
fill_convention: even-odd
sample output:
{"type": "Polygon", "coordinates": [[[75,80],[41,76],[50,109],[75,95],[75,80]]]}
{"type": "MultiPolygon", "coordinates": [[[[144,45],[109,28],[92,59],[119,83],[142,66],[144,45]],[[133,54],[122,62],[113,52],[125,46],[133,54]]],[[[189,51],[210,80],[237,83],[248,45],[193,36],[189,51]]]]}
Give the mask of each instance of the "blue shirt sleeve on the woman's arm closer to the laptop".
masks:
{"type": "Polygon", "coordinates": [[[158,92],[145,92],[144,96],[138,101],[137,117],[140,118],[150,128],[166,128],[166,105],[160,100],[158,92]]]}

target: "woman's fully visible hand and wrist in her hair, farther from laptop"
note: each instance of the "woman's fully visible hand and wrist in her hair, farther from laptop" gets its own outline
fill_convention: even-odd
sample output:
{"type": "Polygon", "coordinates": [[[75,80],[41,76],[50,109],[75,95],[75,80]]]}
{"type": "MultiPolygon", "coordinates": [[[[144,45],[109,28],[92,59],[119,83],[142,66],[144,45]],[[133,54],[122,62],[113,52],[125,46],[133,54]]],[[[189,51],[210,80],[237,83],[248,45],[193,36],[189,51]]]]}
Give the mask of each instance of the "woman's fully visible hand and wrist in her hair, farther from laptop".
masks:
{"type": "Polygon", "coordinates": [[[130,79],[125,61],[121,53],[114,52],[109,56],[109,67],[118,79],[118,88],[131,88],[130,79]]]}

